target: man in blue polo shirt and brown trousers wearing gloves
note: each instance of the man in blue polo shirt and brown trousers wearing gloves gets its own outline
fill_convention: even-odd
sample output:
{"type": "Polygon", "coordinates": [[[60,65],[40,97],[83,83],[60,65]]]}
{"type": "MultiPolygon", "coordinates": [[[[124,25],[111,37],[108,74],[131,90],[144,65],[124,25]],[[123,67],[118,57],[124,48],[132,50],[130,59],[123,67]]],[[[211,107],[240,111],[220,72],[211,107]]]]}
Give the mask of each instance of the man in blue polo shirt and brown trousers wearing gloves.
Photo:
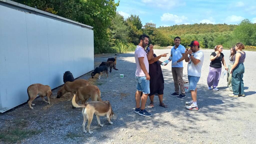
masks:
{"type": "Polygon", "coordinates": [[[175,92],[171,96],[176,98],[185,98],[185,88],[183,82],[183,60],[185,59],[185,47],[180,44],[180,37],[174,38],[174,46],[171,49],[171,56],[169,60],[172,60],[172,74],[174,80],[175,92]],[[180,94],[179,94],[180,86],[180,94]]]}

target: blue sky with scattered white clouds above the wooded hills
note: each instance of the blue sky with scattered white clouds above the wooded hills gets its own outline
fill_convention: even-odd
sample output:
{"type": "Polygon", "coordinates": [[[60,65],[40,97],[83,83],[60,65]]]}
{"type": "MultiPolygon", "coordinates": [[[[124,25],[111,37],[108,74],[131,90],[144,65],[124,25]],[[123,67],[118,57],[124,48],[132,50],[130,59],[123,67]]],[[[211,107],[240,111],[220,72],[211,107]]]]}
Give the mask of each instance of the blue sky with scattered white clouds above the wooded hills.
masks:
{"type": "MultiPolygon", "coordinates": [[[[115,0],[117,2],[117,0],[115,0]]],[[[244,18],[256,23],[256,0],[120,0],[119,14],[139,15],[142,24],[238,24],[244,18]]]]}

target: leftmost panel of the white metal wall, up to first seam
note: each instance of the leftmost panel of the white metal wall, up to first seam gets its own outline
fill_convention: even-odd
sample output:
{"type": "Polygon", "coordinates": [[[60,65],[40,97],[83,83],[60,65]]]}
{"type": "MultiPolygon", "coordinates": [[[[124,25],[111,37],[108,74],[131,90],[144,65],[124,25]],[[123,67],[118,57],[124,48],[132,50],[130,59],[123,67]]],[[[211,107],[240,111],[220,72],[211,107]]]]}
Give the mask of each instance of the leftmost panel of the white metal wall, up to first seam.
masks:
{"type": "Polygon", "coordinates": [[[4,6],[0,10],[1,54],[4,54],[4,61],[0,62],[1,111],[5,111],[27,101],[30,81],[25,13],[4,6]]]}

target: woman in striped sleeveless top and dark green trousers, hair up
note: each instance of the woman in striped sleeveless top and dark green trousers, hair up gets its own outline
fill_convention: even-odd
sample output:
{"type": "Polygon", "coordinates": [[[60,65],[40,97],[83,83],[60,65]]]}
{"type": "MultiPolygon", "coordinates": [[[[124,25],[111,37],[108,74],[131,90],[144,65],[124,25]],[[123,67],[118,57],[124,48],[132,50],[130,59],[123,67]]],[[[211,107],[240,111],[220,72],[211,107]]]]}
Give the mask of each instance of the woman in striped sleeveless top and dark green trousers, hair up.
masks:
{"type": "Polygon", "coordinates": [[[235,62],[233,66],[230,68],[230,73],[232,74],[232,89],[233,94],[228,96],[230,97],[239,97],[245,96],[244,95],[244,88],[243,88],[243,73],[244,73],[244,60],[245,60],[245,52],[242,50],[244,49],[244,45],[242,43],[237,43],[235,47],[237,53],[233,56],[235,62]]]}

